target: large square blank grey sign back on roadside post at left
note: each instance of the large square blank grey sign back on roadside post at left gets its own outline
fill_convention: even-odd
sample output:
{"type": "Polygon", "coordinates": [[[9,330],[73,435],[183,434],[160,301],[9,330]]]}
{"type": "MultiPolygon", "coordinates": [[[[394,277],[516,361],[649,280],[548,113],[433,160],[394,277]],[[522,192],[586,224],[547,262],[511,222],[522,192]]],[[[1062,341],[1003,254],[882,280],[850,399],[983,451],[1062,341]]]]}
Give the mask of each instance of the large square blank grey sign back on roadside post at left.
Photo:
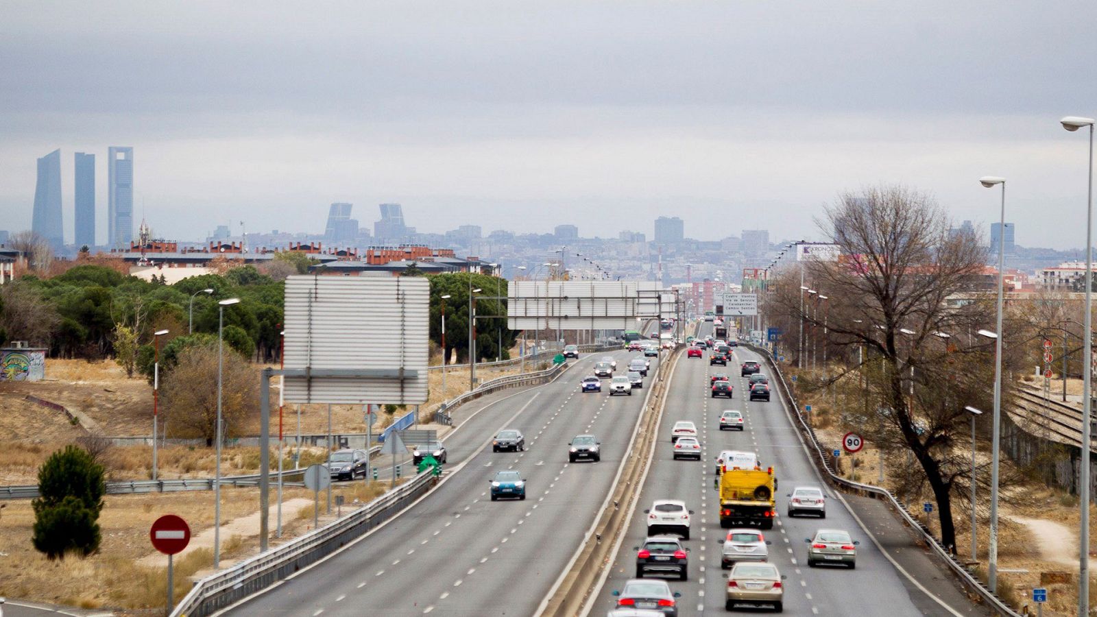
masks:
{"type": "Polygon", "coordinates": [[[422,277],[286,279],[285,368],[366,377],[287,377],[285,400],[426,403],[429,301],[430,283],[422,277]]]}

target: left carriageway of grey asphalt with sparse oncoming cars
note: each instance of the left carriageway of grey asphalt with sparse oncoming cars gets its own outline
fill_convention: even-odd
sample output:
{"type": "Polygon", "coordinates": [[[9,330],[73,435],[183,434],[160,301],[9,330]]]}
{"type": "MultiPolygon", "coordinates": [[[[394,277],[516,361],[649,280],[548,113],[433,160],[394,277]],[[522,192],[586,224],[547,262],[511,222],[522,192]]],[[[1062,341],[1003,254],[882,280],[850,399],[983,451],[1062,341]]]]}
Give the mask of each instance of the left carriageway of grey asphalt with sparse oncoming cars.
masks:
{"type": "MultiPolygon", "coordinates": [[[[617,374],[636,356],[585,355],[553,383],[480,400],[490,404],[444,439],[454,472],[433,493],[226,613],[534,614],[606,500],[648,391],[611,397],[603,380],[602,393],[580,393],[579,382],[606,355],[618,360],[617,374]],[[493,453],[500,428],[521,430],[527,450],[493,453]],[[569,464],[567,445],[585,433],[601,440],[601,462],[569,464]],[[489,500],[489,480],[507,469],[522,472],[525,501],[489,500]]],[[[653,358],[653,371],[656,366],[653,358]]]]}

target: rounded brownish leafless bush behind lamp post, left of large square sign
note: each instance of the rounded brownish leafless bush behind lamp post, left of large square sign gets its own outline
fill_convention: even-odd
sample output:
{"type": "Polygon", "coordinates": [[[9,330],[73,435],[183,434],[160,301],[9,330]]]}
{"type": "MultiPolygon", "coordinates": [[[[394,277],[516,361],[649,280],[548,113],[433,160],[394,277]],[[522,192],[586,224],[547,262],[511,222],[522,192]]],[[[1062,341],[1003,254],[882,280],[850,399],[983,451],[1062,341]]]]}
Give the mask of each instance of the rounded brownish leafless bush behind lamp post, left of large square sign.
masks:
{"type": "MultiPolygon", "coordinates": [[[[247,359],[225,347],[222,418],[226,437],[250,427],[259,416],[259,372],[247,359]]],[[[163,379],[165,420],[173,436],[201,437],[212,446],[217,436],[217,347],[195,345],[179,355],[163,379]]]]}

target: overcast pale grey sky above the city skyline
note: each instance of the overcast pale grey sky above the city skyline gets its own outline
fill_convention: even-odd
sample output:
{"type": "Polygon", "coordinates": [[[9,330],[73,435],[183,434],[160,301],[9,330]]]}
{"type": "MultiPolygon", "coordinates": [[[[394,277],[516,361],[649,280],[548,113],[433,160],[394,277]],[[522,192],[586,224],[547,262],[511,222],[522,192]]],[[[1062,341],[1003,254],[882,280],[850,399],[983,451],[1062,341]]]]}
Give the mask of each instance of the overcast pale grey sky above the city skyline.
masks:
{"type": "Polygon", "coordinates": [[[842,190],[902,182],[1017,243],[1085,244],[1097,3],[8,2],[0,229],[35,159],[135,149],[158,235],[323,232],[327,205],[409,225],[815,237],[842,190]],[[281,8],[279,5],[281,4],[281,8]],[[236,227],[234,227],[234,231],[236,227]]]}

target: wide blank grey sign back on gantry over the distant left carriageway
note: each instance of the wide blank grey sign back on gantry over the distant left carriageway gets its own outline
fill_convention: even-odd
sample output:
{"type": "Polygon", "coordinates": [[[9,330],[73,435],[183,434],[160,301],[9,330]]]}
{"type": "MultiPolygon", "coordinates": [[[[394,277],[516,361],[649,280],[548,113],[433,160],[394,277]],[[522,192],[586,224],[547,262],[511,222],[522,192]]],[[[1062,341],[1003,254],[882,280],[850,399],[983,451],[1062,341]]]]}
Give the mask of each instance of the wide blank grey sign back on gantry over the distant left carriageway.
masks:
{"type": "MultiPolygon", "coordinates": [[[[510,329],[636,329],[659,316],[654,282],[514,281],[508,285],[510,329]]],[[[666,306],[664,306],[666,311],[666,306]]]]}

